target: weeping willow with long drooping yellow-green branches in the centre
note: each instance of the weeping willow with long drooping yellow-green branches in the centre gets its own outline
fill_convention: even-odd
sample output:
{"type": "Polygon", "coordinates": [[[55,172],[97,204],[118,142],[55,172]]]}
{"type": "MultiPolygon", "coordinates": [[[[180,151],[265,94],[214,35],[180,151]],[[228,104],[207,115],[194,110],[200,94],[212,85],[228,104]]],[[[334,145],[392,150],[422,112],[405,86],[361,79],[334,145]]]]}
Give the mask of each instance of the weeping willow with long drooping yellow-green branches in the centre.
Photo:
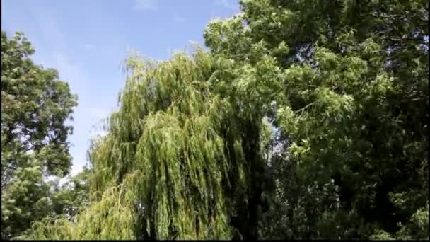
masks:
{"type": "Polygon", "coordinates": [[[35,224],[30,238],[256,238],[260,134],[270,129],[250,90],[269,84],[272,61],[237,66],[200,49],[166,62],[133,54],[120,108],[89,151],[93,202],[74,221],[35,224]]]}

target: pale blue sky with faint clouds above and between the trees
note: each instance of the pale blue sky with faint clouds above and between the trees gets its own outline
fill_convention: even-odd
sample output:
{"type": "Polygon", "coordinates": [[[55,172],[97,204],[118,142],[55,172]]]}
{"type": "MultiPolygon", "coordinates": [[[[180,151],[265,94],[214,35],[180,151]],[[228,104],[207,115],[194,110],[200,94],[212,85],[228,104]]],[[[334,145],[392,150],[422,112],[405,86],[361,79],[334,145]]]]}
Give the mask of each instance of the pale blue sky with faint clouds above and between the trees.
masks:
{"type": "Polygon", "coordinates": [[[3,0],[1,28],[10,37],[23,31],[33,43],[33,60],[59,71],[79,96],[74,134],[69,137],[76,174],[99,123],[117,107],[124,85],[120,64],[127,50],[168,59],[190,40],[204,45],[213,18],[238,13],[237,0],[3,0]]]}

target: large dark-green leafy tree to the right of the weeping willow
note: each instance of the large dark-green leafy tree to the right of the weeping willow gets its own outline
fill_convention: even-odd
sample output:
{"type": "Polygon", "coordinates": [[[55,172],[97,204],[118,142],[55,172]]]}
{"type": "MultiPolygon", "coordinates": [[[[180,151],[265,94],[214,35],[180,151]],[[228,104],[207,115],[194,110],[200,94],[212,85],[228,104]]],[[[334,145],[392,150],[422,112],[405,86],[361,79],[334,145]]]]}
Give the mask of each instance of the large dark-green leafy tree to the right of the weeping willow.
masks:
{"type": "Polygon", "coordinates": [[[428,2],[240,3],[204,36],[214,54],[269,55],[283,72],[286,98],[267,113],[282,151],[265,237],[400,236],[429,203],[428,2]]]}

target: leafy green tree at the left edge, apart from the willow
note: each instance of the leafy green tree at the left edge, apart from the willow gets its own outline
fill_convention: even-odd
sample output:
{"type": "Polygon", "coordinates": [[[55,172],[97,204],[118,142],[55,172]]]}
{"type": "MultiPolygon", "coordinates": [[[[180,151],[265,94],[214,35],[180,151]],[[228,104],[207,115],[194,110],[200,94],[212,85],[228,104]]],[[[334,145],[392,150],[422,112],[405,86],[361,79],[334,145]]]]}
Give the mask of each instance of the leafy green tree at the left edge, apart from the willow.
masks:
{"type": "Polygon", "coordinates": [[[48,175],[69,173],[67,135],[76,96],[57,71],[33,64],[22,33],[1,32],[1,238],[50,212],[48,175]]]}

